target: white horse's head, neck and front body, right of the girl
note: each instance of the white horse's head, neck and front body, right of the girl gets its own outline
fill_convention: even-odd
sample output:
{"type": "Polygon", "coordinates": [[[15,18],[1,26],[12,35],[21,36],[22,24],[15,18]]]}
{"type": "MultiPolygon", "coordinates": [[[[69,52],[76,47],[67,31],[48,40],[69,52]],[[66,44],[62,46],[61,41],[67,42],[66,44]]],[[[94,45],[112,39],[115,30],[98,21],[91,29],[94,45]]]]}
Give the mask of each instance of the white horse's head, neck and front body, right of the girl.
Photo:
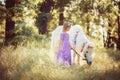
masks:
{"type": "MultiPolygon", "coordinates": [[[[79,61],[79,58],[82,57],[83,55],[87,63],[91,65],[92,54],[94,52],[94,43],[89,41],[87,35],[83,32],[82,27],[80,25],[74,25],[70,29],[70,43],[71,43],[71,46],[80,55],[80,56],[77,55],[78,61],[79,61]],[[77,36],[76,36],[76,33],[77,33],[77,36]],[[74,39],[75,36],[76,36],[76,43],[74,44],[72,39],[74,39]]],[[[75,61],[74,58],[73,58],[73,61],[75,61]]]]}

